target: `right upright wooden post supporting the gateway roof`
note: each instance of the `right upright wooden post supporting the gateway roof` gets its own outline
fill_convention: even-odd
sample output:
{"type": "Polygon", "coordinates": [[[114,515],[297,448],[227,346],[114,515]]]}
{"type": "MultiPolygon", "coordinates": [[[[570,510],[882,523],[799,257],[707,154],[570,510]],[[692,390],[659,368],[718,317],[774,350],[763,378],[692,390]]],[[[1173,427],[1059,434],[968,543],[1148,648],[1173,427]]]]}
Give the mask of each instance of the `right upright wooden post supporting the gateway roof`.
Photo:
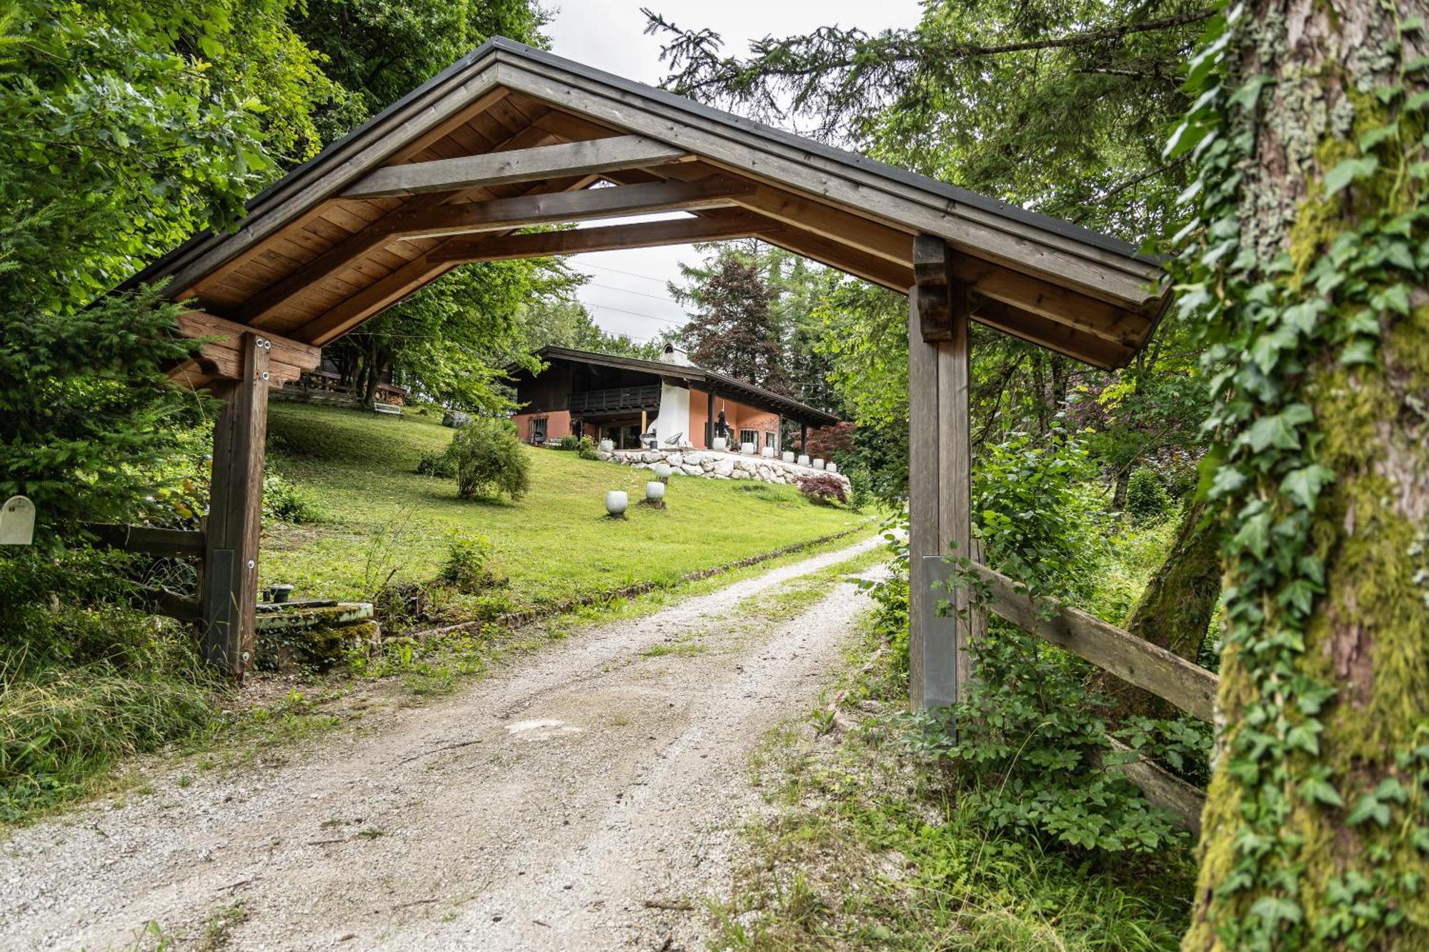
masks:
{"type": "Polygon", "coordinates": [[[940,237],[913,240],[909,289],[909,703],[926,710],[957,700],[970,673],[967,626],[933,590],[929,556],[970,556],[967,289],[952,277],[953,250],[940,237]]]}

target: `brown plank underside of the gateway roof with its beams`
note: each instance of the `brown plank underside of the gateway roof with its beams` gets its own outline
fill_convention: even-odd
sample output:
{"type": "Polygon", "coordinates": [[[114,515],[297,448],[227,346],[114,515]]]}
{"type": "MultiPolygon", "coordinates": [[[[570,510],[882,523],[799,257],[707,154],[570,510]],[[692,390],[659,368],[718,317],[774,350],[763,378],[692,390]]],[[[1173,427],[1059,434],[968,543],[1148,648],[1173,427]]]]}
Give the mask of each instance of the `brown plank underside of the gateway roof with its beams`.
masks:
{"type": "MultiPolygon", "coordinates": [[[[907,293],[917,229],[630,134],[504,87],[414,137],[379,167],[197,280],[207,314],[322,346],[466,262],[757,236],[907,293]],[[652,224],[552,230],[686,210],[652,224]]],[[[960,250],[953,280],[990,327],[1100,367],[1145,344],[1162,297],[1127,306],[960,250]]],[[[221,369],[207,376],[224,376],[221,369]]],[[[193,366],[184,379],[203,383],[193,366]]]]}

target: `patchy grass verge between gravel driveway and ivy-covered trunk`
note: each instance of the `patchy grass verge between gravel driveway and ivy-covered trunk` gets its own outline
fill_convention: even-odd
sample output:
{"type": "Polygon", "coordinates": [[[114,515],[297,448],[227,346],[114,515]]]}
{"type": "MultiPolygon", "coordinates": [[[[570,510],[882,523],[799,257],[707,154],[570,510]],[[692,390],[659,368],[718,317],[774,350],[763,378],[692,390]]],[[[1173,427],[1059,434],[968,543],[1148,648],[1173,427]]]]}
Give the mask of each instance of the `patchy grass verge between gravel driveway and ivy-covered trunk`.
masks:
{"type": "MultiPolygon", "coordinates": [[[[872,628],[872,626],[869,626],[872,628]]],[[[773,805],[746,829],[735,888],[710,903],[717,949],[1175,949],[1185,855],[1099,861],[979,829],[949,778],[902,743],[906,685],[869,633],[820,708],[752,758],[773,805]]]]}

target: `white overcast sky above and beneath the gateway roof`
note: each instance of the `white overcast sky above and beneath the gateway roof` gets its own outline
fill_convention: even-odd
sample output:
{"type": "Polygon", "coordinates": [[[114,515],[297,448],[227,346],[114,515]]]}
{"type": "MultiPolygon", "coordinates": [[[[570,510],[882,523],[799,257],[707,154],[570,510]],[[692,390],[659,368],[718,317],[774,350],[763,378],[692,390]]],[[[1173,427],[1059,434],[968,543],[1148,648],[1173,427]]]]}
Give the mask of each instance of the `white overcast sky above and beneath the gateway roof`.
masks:
{"type": "MultiPolygon", "coordinates": [[[[726,53],[747,50],[749,40],[766,34],[806,33],[837,23],[867,31],[913,26],[917,0],[564,0],[546,29],[560,56],[620,76],[657,84],[660,39],[644,36],[650,7],[684,29],[709,27],[725,37],[726,53]]],[[[610,224],[603,222],[602,224],[610,224]]],[[[630,249],[579,254],[570,263],[592,276],[580,299],[596,323],[612,333],[654,337],[684,322],[684,310],[669,297],[666,282],[679,279],[679,262],[697,260],[689,246],[630,249]]]]}

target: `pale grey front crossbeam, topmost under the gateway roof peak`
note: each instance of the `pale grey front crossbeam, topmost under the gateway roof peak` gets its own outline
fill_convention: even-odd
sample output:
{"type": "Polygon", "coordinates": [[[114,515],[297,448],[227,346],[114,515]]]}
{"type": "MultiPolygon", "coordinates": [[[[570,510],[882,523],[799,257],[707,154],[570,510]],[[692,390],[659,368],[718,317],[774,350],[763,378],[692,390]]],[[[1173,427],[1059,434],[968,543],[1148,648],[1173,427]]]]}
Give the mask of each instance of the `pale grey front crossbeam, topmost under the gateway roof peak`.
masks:
{"type": "Polygon", "coordinates": [[[644,136],[610,136],[587,142],[507,149],[457,159],[437,159],[377,169],[343,192],[346,199],[374,199],[452,192],[476,186],[537,182],[564,176],[640,169],[680,162],[687,153],[644,136]]]}

